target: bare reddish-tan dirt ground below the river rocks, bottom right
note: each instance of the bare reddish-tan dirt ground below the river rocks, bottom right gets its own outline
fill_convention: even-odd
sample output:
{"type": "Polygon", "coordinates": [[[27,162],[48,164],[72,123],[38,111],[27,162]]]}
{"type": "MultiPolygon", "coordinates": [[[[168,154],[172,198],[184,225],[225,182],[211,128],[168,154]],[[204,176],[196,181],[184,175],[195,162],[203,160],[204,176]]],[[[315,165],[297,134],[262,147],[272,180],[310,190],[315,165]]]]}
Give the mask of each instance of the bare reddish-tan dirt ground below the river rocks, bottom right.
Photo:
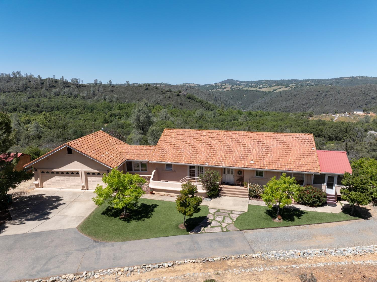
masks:
{"type": "MultiPolygon", "coordinates": [[[[313,272],[317,281],[377,281],[377,265],[347,264],[347,265],[326,265],[323,267],[305,267],[305,268],[287,268],[287,265],[314,264],[318,262],[349,262],[377,260],[377,254],[369,254],[364,256],[352,256],[351,258],[325,256],[322,258],[315,257],[313,259],[287,259],[277,261],[275,259],[255,259],[242,258],[228,261],[216,261],[207,263],[188,263],[176,265],[170,268],[156,269],[149,273],[132,274],[129,277],[123,276],[118,280],[126,281],[187,281],[202,282],[205,279],[215,279],[216,281],[283,281],[293,282],[300,281],[299,275],[302,273],[313,272]],[[280,266],[278,270],[264,270],[261,272],[241,272],[240,274],[229,273],[227,270],[240,270],[248,268],[268,268],[280,266]],[[192,274],[199,273],[196,276],[192,274]],[[187,275],[191,274],[191,275],[187,275]],[[179,277],[177,277],[179,276],[179,277]],[[182,277],[184,276],[184,277],[182,277]]],[[[104,281],[115,280],[114,277],[106,277],[104,281]]]]}

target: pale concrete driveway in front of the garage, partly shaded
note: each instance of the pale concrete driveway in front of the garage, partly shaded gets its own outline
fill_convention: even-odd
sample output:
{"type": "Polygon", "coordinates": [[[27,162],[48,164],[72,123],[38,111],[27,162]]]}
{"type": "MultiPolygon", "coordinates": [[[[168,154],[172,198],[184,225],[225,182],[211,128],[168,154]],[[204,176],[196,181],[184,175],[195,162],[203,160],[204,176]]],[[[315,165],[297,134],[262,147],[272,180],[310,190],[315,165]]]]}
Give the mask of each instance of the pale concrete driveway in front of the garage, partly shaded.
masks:
{"type": "Polygon", "coordinates": [[[77,227],[96,207],[93,190],[40,188],[18,197],[0,236],[77,227]]]}

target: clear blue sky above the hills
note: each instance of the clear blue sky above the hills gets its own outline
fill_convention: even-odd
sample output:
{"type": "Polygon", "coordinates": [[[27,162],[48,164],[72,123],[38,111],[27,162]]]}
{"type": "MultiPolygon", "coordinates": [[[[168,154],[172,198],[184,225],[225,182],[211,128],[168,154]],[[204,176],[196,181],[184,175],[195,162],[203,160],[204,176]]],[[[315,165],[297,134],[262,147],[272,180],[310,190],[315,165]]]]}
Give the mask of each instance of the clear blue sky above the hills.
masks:
{"type": "Polygon", "coordinates": [[[0,72],[84,82],[377,76],[377,1],[0,0],[0,72]]]}

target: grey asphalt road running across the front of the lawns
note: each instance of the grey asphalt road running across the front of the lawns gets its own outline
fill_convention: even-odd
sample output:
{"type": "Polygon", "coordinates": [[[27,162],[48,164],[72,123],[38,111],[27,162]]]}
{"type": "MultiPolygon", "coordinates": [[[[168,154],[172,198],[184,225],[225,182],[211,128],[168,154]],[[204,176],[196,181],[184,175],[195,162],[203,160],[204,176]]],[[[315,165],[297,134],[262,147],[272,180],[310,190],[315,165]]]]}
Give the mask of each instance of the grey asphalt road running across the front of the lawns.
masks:
{"type": "Polygon", "coordinates": [[[377,244],[376,216],[309,226],[97,242],[77,229],[0,237],[0,282],[267,250],[377,244]]]}

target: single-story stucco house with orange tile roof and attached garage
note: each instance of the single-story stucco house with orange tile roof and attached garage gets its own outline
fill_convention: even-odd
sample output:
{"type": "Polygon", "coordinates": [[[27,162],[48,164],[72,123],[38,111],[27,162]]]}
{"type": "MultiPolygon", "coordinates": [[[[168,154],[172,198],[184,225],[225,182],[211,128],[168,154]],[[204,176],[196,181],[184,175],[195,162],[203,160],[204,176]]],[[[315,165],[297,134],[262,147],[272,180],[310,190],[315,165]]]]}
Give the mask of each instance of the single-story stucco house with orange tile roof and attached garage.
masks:
{"type": "Polygon", "coordinates": [[[103,184],[104,173],[117,167],[147,178],[156,193],[178,194],[182,183],[192,181],[203,197],[199,175],[208,169],[219,171],[225,195],[238,197],[248,195],[240,187],[244,181],[264,185],[286,173],[299,184],[319,185],[334,197],[337,178],[332,175],[350,172],[349,162],[342,152],[345,158],[337,159],[342,166],[333,167],[325,161],[328,166],[322,169],[320,158],[332,156],[321,152],[328,151],[317,151],[313,134],[307,133],[167,128],[156,146],[140,146],[97,131],[64,143],[25,168],[34,168],[36,187],[94,189],[103,184]]]}

